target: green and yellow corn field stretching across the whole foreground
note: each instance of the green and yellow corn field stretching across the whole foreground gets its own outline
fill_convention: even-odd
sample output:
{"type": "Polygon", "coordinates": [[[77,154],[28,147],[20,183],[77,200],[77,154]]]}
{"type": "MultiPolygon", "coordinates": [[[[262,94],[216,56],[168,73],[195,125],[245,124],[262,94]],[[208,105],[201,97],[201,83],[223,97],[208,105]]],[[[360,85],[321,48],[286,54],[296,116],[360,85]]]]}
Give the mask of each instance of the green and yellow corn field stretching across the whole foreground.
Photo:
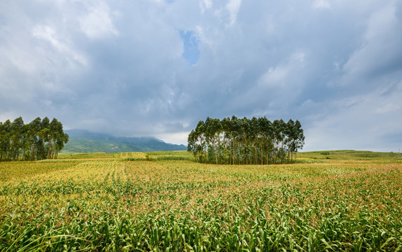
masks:
{"type": "Polygon", "coordinates": [[[206,165],[187,152],[0,162],[0,251],[402,251],[398,153],[206,165]]]}

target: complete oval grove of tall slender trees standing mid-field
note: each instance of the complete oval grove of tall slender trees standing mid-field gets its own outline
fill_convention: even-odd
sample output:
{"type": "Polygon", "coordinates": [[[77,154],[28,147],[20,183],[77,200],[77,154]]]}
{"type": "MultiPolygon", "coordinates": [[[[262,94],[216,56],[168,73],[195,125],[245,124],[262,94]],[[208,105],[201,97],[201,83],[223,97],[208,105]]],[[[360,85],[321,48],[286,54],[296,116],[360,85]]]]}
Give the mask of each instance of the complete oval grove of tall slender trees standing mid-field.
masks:
{"type": "Polygon", "coordinates": [[[298,120],[207,118],[188,134],[188,151],[198,162],[268,165],[296,162],[305,137],[298,120]]]}

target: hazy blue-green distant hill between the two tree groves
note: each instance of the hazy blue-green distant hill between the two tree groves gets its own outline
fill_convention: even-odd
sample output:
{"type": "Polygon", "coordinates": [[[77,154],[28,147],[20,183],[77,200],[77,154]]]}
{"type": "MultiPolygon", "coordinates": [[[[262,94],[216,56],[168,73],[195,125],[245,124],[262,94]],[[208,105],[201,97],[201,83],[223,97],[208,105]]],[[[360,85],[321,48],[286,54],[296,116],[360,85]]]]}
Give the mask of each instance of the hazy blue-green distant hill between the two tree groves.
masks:
{"type": "Polygon", "coordinates": [[[62,153],[122,153],[135,151],[186,151],[183,144],[167,144],[154,137],[114,137],[88,130],[65,130],[69,142],[62,153]]]}

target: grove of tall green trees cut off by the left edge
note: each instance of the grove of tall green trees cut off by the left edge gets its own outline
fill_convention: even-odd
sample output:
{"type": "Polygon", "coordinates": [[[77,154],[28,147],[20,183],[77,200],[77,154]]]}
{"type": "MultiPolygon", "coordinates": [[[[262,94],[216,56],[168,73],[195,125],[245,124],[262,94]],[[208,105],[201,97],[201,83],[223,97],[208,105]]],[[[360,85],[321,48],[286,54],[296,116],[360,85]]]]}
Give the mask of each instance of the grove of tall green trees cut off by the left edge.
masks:
{"type": "Polygon", "coordinates": [[[0,122],[0,161],[57,158],[69,135],[57,119],[36,118],[25,124],[21,117],[0,122]]]}

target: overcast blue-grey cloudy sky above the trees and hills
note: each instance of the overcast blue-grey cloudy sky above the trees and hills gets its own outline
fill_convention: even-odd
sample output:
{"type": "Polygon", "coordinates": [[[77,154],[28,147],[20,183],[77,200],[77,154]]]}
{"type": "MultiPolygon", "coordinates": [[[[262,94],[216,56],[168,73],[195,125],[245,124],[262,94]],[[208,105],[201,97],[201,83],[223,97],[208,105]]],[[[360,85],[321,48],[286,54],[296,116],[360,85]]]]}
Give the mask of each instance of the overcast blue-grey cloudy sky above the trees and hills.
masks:
{"type": "Polygon", "coordinates": [[[400,0],[0,1],[0,121],[187,144],[300,120],[303,151],[402,149],[400,0]]]}

